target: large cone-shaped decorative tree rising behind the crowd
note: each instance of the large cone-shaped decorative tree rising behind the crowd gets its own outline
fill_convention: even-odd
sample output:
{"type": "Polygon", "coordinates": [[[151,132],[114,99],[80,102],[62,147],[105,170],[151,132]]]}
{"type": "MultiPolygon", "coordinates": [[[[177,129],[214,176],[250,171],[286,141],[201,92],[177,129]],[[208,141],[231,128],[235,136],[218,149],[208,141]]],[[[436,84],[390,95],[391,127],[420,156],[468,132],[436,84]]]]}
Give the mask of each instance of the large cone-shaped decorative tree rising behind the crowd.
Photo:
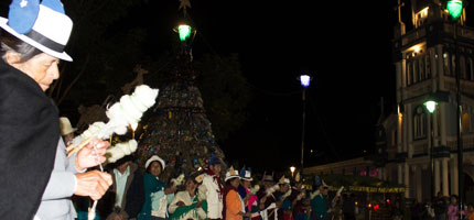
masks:
{"type": "Polygon", "coordinates": [[[182,41],[181,53],[166,86],[159,92],[152,116],[142,122],[143,134],[136,153],[140,164],[152,155],[163,158],[166,162],[164,180],[207,167],[212,154],[224,163],[224,153],[215,141],[195,85],[188,41],[182,41]]]}

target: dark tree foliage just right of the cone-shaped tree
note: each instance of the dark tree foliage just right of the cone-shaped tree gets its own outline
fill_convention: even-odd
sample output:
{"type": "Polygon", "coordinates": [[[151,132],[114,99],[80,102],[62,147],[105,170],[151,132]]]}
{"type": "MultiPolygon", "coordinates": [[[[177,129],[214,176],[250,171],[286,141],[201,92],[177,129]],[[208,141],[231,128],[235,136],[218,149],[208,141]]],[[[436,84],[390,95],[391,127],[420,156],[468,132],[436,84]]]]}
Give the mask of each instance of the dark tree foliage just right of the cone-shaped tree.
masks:
{"type": "Polygon", "coordinates": [[[218,141],[225,140],[246,121],[245,108],[251,98],[238,56],[205,54],[194,66],[213,132],[218,141]]]}

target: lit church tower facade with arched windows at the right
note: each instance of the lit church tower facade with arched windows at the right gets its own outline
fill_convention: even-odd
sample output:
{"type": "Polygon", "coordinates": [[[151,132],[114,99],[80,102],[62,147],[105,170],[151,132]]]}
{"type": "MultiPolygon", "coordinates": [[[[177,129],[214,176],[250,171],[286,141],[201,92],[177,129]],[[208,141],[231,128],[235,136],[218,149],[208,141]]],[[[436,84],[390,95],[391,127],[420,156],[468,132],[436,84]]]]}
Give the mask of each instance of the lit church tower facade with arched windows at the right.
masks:
{"type": "MultiPolygon", "coordinates": [[[[412,28],[406,30],[399,4],[392,40],[397,110],[377,125],[378,155],[371,158],[373,169],[384,180],[405,185],[406,198],[421,202],[439,191],[443,196],[461,193],[466,202],[474,202],[474,29],[465,25],[465,10],[454,25],[440,0],[409,2],[412,28]],[[460,103],[456,73],[461,76],[460,103]],[[428,100],[438,103],[433,113],[424,106],[428,100]],[[463,174],[457,167],[456,125],[464,150],[463,174]]],[[[327,173],[330,166],[349,170],[349,164],[310,167],[305,173],[327,173]]],[[[352,164],[367,166],[357,160],[352,164]]]]}

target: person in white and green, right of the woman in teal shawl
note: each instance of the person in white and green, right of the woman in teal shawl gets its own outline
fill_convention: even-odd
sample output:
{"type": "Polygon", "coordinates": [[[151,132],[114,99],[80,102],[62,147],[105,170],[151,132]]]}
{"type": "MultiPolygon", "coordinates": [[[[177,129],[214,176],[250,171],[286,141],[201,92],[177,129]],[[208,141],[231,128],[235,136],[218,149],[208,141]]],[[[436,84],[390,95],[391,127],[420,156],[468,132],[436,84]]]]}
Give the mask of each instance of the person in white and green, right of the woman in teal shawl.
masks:
{"type": "Polygon", "coordinates": [[[207,202],[196,193],[201,180],[202,176],[186,179],[186,190],[179,191],[168,208],[170,220],[206,219],[207,202]]]}

